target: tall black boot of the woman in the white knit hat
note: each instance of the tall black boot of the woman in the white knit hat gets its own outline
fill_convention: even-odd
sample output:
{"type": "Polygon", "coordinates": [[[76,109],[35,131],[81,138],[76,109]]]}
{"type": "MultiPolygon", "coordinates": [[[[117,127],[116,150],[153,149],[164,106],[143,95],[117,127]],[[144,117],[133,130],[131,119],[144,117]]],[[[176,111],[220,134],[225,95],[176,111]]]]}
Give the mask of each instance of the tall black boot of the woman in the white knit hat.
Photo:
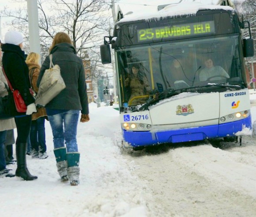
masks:
{"type": "Polygon", "coordinates": [[[32,176],[26,168],[26,146],[27,143],[16,144],[17,169],[15,175],[25,181],[32,181],[37,179],[37,176],[32,176]]]}

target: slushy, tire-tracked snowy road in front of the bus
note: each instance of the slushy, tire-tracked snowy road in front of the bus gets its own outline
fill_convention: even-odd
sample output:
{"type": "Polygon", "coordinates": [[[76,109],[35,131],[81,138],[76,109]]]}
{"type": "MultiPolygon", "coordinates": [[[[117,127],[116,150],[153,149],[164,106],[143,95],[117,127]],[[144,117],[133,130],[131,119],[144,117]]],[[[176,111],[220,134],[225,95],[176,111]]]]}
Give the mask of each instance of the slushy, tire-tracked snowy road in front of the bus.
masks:
{"type": "Polygon", "coordinates": [[[230,143],[222,149],[210,144],[162,146],[125,156],[138,166],[133,175],[152,192],[151,217],[255,217],[252,141],[246,137],[242,146],[230,143]]]}

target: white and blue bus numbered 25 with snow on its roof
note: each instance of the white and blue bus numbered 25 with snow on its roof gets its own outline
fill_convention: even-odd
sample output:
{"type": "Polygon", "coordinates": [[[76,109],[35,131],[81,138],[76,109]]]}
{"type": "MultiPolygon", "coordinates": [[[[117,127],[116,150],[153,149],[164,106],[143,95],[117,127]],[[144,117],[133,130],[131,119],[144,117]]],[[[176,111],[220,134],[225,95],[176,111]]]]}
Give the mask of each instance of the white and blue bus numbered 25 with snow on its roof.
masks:
{"type": "Polygon", "coordinates": [[[241,26],[232,7],[194,2],[120,19],[109,43],[124,141],[227,139],[251,129],[244,57],[252,39],[241,38],[241,26]]]}

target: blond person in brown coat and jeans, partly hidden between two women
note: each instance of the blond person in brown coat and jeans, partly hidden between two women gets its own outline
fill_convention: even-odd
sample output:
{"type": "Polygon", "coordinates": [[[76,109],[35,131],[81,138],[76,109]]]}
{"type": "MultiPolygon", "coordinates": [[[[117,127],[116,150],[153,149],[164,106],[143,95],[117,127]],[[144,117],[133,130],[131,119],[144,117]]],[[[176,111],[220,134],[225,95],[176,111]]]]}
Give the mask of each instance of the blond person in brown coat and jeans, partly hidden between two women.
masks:
{"type": "MultiPolygon", "coordinates": [[[[36,81],[40,72],[40,55],[31,52],[26,57],[26,64],[28,66],[28,74],[31,87],[35,93],[38,92],[36,81]]],[[[45,128],[44,121],[47,118],[45,108],[37,108],[37,112],[32,114],[32,123],[30,128],[30,143],[31,143],[31,157],[45,159],[46,144],[45,144],[45,128]]]]}

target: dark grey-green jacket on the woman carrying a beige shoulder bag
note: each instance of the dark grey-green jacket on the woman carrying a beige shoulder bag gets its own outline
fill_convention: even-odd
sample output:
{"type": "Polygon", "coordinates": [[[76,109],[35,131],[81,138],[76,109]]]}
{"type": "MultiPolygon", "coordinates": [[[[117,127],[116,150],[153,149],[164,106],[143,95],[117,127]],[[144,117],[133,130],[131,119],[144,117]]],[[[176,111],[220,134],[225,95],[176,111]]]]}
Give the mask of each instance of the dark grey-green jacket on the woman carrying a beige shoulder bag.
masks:
{"type": "MultiPolygon", "coordinates": [[[[47,109],[81,110],[88,114],[85,74],[82,60],[76,56],[71,44],[59,43],[52,50],[52,62],[60,67],[61,76],[66,88],[53,98],[46,106],[47,109]]],[[[45,69],[49,68],[49,56],[46,56],[37,80],[39,86],[45,69]]]]}

